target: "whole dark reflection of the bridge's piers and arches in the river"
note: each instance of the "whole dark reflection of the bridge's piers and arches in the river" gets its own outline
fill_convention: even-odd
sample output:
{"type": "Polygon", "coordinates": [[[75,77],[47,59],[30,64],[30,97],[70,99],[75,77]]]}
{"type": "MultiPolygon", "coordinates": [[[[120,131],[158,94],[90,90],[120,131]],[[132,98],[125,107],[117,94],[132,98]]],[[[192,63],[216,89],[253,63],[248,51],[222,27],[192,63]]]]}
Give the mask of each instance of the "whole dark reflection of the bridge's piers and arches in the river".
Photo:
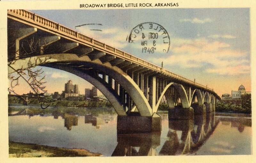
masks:
{"type": "MultiPolygon", "coordinates": [[[[214,113],[195,116],[194,120],[169,119],[168,140],[159,155],[188,154],[198,150],[211,136],[220,120],[214,113]],[[177,132],[181,131],[179,138],[177,132]]],[[[154,156],[160,145],[160,132],[143,134],[117,134],[117,146],[112,156],[154,156]]]]}

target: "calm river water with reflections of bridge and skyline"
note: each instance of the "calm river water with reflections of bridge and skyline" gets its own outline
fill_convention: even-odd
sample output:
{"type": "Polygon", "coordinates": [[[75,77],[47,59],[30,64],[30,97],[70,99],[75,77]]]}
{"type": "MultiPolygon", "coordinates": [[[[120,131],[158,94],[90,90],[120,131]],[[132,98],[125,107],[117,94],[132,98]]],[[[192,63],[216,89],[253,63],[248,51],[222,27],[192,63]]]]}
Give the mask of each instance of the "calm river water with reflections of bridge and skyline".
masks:
{"type": "Polygon", "coordinates": [[[83,110],[83,115],[35,115],[29,108],[13,112],[9,141],[87,149],[103,156],[250,155],[252,151],[252,122],[246,116],[211,113],[194,120],[168,120],[168,112],[162,111],[158,113],[162,132],[117,134],[114,109],[83,110]]]}

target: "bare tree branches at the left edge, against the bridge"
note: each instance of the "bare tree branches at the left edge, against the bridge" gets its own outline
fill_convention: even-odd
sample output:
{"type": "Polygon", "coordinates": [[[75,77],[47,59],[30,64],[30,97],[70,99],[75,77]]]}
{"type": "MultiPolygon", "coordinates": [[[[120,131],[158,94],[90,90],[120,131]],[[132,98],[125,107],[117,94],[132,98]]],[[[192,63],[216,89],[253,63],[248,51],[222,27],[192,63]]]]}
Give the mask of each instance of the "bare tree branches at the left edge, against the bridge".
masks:
{"type": "MultiPolygon", "coordinates": [[[[45,40],[44,40],[44,43],[45,43],[45,40]]],[[[14,45],[12,45],[12,46],[14,46],[14,45]]],[[[45,47],[42,45],[40,46],[40,39],[38,41],[35,41],[35,39],[33,37],[30,40],[26,40],[21,43],[20,56],[32,55],[32,54],[40,55],[41,50],[45,50],[45,47]],[[24,44],[24,42],[26,44],[24,44]],[[26,47],[28,47],[28,48],[26,48],[26,47]]],[[[15,56],[15,54],[11,55],[11,56],[15,56]]],[[[21,57],[19,59],[25,59],[25,58],[21,57]]],[[[25,66],[26,68],[23,68],[23,66],[21,66],[21,68],[19,68],[19,69],[15,69],[13,66],[18,59],[15,58],[15,59],[11,60],[8,63],[8,66],[11,67],[14,70],[14,72],[11,74],[8,74],[8,79],[11,80],[11,87],[8,88],[8,91],[17,95],[17,93],[15,93],[15,91],[14,91],[14,87],[20,84],[19,83],[20,79],[23,79],[26,83],[28,83],[29,87],[36,94],[36,97],[37,97],[38,101],[41,102],[41,107],[42,107],[42,100],[40,97],[40,93],[47,92],[47,90],[45,89],[46,86],[44,85],[46,82],[44,82],[45,76],[42,75],[44,73],[42,71],[42,68],[36,69],[36,66],[40,66],[44,63],[47,63],[49,59],[51,59],[51,58],[43,58],[43,59],[34,58],[34,60],[32,60],[32,58],[29,57],[29,60],[27,63],[28,65],[25,66]]]]}

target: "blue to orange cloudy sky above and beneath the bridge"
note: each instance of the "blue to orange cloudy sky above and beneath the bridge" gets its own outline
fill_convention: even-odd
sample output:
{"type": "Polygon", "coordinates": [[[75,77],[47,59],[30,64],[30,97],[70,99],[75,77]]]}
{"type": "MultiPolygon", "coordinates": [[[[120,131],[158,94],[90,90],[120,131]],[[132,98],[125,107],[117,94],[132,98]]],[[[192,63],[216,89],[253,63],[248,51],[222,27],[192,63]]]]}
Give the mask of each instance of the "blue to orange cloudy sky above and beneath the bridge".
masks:
{"type": "MultiPolygon", "coordinates": [[[[241,84],[246,91],[251,91],[249,8],[31,12],[158,66],[163,62],[165,69],[192,81],[195,79],[196,82],[213,88],[219,96],[224,93],[231,94],[231,90],[238,90],[241,84]],[[134,43],[126,40],[132,29],[144,22],[159,24],[167,31],[170,38],[167,53],[162,51],[166,44],[161,41],[161,32],[158,32],[159,39],[156,40],[154,53],[142,52],[142,32],[134,38],[134,43]]],[[[149,29],[144,31],[147,37],[148,31],[149,29]]],[[[148,47],[151,48],[153,44],[150,41],[148,47]]],[[[84,88],[92,87],[90,83],[74,74],[48,67],[42,67],[42,70],[49,93],[62,92],[64,83],[70,79],[74,84],[78,84],[80,94],[84,94],[84,88]]],[[[28,89],[20,84],[15,91],[26,93],[28,89]]]]}

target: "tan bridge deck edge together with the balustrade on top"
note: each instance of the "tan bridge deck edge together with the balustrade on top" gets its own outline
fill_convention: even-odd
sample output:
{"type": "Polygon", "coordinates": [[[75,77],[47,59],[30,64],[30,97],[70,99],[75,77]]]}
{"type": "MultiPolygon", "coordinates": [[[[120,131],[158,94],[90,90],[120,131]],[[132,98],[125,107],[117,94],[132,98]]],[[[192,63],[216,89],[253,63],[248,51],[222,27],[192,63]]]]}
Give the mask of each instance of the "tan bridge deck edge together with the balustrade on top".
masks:
{"type": "Polygon", "coordinates": [[[101,43],[97,40],[87,37],[77,31],[74,31],[68,27],[62,26],[59,23],[56,23],[49,19],[46,19],[46,18],[39,16],[35,13],[29,12],[26,10],[8,10],[7,14],[8,14],[8,18],[11,18],[11,19],[14,19],[14,20],[17,20],[20,22],[26,22],[26,24],[37,27],[44,31],[50,32],[52,34],[60,35],[61,37],[64,37],[64,38],[76,41],[78,43],[81,43],[83,45],[86,45],[88,47],[92,47],[97,50],[106,52],[112,56],[116,56],[118,58],[125,59],[126,61],[143,66],[145,68],[148,68],[148,69],[156,71],[156,72],[160,72],[160,73],[168,75],[174,79],[181,80],[182,82],[189,83],[191,85],[206,89],[206,90],[216,94],[213,91],[213,89],[207,88],[207,86],[204,86],[197,82],[186,79],[178,74],[172,73],[171,71],[163,69],[155,64],[152,64],[152,63],[150,63],[146,60],[143,60],[141,58],[135,57],[135,56],[133,56],[129,53],[126,53],[122,50],[118,50],[114,47],[111,47],[111,46],[105,44],[105,43],[101,43]]]}

